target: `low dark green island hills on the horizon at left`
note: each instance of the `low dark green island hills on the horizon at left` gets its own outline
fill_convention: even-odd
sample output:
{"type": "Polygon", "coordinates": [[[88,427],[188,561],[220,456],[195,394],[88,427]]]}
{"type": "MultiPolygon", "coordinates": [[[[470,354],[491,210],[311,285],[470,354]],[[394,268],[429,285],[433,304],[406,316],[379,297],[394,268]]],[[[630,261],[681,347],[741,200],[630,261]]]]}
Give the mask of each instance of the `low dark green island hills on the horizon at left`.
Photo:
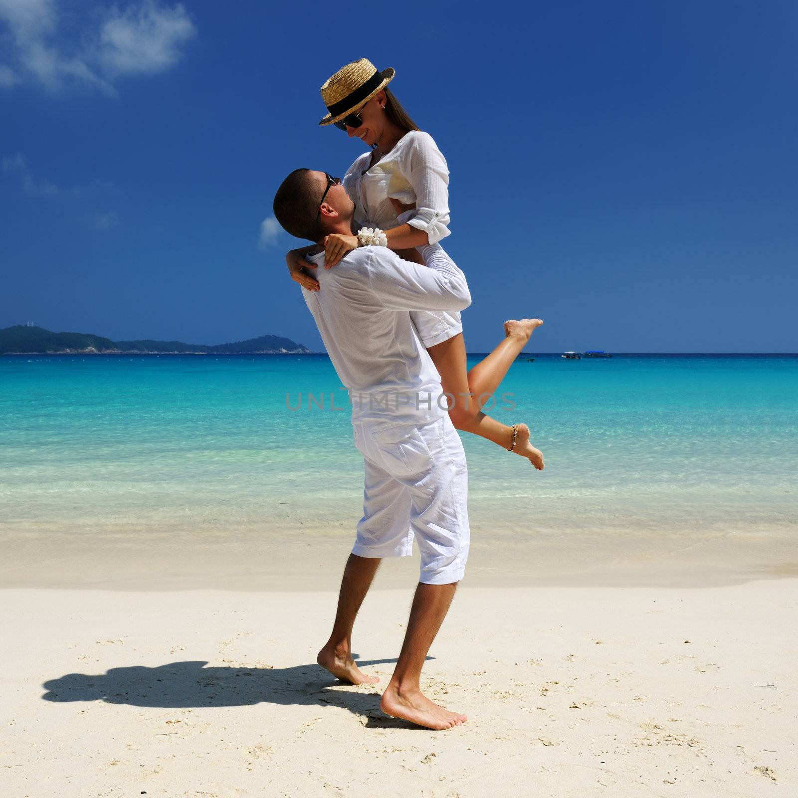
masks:
{"type": "Polygon", "coordinates": [[[180,341],[112,341],[87,333],[53,333],[22,324],[0,330],[0,354],[307,354],[302,344],[280,335],[261,335],[231,344],[180,341]]]}

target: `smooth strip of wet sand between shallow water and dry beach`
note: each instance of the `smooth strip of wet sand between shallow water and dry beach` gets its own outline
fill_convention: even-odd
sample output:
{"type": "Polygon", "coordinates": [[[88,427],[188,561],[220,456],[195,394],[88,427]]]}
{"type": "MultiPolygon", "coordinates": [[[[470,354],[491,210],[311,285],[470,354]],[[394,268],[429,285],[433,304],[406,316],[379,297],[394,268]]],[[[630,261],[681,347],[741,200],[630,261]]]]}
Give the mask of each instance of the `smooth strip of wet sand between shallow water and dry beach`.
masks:
{"type": "MultiPolygon", "coordinates": [[[[536,531],[472,523],[463,587],[710,587],[798,576],[798,529],[536,531]]],[[[117,525],[6,530],[0,587],[109,591],[337,591],[349,527],[208,534],[117,525]]],[[[413,559],[385,560],[378,590],[409,588],[413,559]]]]}

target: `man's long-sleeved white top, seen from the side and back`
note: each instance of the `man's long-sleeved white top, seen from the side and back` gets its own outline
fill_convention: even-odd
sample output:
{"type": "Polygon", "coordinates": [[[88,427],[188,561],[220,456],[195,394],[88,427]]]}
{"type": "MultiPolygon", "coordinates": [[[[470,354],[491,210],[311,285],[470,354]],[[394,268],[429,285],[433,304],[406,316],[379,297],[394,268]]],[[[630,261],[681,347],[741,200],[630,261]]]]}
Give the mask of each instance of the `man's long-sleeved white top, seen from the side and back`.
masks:
{"type": "Polygon", "coordinates": [[[440,375],[418,339],[410,310],[464,310],[465,275],[438,244],[420,247],[427,266],[388,247],[358,247],[331,269],[324,253],[314,276],[320,290],[302,295],[342,385],[352,420],[436,421],[447,413],[440,375]]]}

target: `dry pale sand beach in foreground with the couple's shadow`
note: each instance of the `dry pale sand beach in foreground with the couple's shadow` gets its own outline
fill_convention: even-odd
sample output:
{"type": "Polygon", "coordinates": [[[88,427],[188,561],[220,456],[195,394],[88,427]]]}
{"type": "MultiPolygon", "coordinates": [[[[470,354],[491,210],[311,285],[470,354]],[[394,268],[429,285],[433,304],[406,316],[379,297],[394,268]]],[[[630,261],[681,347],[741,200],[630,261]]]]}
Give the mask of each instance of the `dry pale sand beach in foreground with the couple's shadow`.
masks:
{"type": "MultiPolygon", "coordinates": [[[[417,560],[389,566],[353,641],[382,684],[417,560]]],[[[446,732],[315,664],[334,591],[8,589],[0,792],[796,795],[796,588],[466,579],[422,678],[468,714],[446,732]]]]}

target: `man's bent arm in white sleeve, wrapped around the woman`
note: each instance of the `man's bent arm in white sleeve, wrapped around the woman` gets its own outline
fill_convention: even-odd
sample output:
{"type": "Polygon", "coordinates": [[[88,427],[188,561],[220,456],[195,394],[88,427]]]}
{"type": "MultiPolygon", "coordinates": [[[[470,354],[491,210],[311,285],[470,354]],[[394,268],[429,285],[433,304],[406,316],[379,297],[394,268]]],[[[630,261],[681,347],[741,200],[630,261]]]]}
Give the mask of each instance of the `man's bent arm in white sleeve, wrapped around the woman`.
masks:
{"type": "Polygon", "coordinates": [[[402,260],[386,247],[369,253],[369,279],[387,310],[464,310],[471,304],[468,282],[438,244],[421,247],[426,266],[402,260]]]}

